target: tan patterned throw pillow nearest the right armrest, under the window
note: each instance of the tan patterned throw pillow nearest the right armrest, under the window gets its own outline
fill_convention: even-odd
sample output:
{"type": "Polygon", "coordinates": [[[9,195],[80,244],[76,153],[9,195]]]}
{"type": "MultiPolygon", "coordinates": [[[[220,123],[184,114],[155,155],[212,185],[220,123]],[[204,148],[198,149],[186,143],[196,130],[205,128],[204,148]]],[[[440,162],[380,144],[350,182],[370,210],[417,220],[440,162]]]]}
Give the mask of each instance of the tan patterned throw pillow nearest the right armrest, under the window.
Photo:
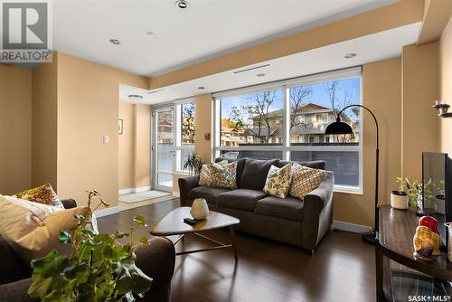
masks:
{"type": "Polygon", "coordinates": [[[294,163],[292,167],[292,184],[289,194],[303,199],[306,194],[312,192],[324,180],[324,170],[309,168],[305,165],[294,163]]]}

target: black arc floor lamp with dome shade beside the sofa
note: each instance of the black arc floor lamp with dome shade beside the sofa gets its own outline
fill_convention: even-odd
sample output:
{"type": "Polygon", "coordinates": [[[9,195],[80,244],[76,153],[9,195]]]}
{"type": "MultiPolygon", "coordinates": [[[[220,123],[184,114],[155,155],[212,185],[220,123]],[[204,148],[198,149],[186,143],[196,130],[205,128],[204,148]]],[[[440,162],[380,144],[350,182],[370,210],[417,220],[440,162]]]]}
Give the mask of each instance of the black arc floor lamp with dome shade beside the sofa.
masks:
{"type": "Polygon", "coordinates": [[[347,107],[345,107],[344,109],[342,109],[341,111],[339,111],[339,113],[337,114],[337,118],[336,121],[329,124],[328,126],[326,126],[325,128],[325,134],[353,134],[353,129],[350,125],[348,125],[347,123],[344,123],[341,121],[341,113],[344,112],[345,109],[349,109],[352,107],[360,107],[363,109],[366,109],[373,118],[373,121],[375,122],[375,127],[377,128],[377,148],[375,150],[375,227],[373,228],[373,230],[369,233],[365,233],[363,234],[363,241],[370,243],[370,244],[375,244],[378,239],[376,238],[377,235],[377,231],[378,231],[378,227],[379,227],[379,215],[378,215],[378,172],[379,172],[379,137],[378,137],[378,122],[377,122],[377,118],[375,118],[375,115],[373,114],[373,112],[371,111],[371,109],[366,108],[363,105],[349,105],[347,107]]]}

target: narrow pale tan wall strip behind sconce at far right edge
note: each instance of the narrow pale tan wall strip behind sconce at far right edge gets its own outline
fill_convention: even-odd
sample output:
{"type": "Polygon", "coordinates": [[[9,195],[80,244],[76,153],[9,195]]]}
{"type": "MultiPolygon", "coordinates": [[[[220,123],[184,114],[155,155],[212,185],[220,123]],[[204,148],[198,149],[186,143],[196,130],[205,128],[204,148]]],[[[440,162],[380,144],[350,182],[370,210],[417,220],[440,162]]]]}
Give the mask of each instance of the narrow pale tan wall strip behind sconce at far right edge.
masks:
{"type": "MultiPolygon", "coordinates": [[[[452,17],[439,41],[439,62],[439,99],[452,105],[452,17]]],[[[441,132],[441,152],[452,153],[452,118],[438,118],[438,120],[441,132]]]]}

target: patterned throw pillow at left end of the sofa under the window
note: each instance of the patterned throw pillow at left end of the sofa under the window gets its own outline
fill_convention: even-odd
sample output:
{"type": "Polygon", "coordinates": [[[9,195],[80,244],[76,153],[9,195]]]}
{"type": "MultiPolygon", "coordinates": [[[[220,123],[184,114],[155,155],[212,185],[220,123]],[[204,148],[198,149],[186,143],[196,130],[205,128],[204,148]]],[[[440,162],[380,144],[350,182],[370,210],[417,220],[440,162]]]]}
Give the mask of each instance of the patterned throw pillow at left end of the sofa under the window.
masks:
{"type": "Polygon", "coordinates": [[[237,162],[228,164],[227,161],[202,165],[199,185],[218,188],[237,189],[237,162]]]}

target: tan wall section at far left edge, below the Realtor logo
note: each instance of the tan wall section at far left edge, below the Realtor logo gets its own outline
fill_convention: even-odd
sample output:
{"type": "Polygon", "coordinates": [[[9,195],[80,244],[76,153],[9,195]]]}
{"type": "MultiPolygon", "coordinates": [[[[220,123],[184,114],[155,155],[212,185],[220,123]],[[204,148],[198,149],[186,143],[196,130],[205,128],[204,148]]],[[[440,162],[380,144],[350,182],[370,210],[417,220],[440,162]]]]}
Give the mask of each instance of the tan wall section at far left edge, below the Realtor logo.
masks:
{"type": "Polygon", "coordinates": [[[32,183],[32,71],[0,64],[0,194],[32,183]]]}

